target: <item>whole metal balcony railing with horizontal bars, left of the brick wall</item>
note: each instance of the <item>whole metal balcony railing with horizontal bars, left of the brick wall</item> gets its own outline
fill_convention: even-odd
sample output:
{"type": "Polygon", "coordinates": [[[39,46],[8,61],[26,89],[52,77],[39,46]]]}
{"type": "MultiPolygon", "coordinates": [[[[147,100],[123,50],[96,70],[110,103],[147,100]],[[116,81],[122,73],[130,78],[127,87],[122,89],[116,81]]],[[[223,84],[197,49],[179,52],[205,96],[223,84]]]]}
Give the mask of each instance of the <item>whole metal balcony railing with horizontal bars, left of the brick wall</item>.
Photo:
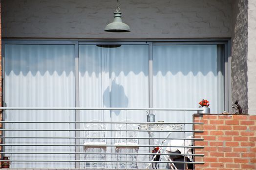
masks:
{"type": "MultiPolygon", "coordinates": [[[[127,110],[127,111],[197,111],[202,109],[172,108],[56,108],[56,107],[0,107],[6,110],[127,110]]],[[[1,157],[8,156],[10,168],[52,169],[52,166],[40,162],[66,162],[64,167],[56,169],[178,169],[181,164],[203,164],[194,161],[196,156],[194,141],[202,138],[188,137],[187,134],[203,133],[192,128],[185,128],[199,122],[148,122],[148,121],[0,121],[2,123],[1,157]],[[19,128],[11,128],[6,124],[18,124],[19,128]],[[43,128],[26,128],[29,124],[45,125],[43,128]],[[73,124],[74,129],[47,128],[47,125],[73,124]],[[26,126],[27,125],[27,126],[26,126]],[[22,132],[25,135],[13,135],[8,132],[22,132]],[[27,133],[26,133],[27,132],[27,133]],[[32,133],[34,132],[34,133],[32,133]],[[44,136],[38,136],[45,132],[44,136]],[[55,136],[47,136],[54,132],[55,136]],[[68,136],[58,133],[69,132],[68,136]],[[172,134],[176,134],[172,136],[172,134]],[[16,142],[12,142],[16,139],[16,142]],[[19,140],[21,141],[19,141],[19,140]],[[35,140],[42,140],[41,142],[35,140]],[[59,140],[58,140],[59,139],[59,140]],[[68,139],[68,143],[62,139],[68,139]],[[19,141],[19,142],[17,142],[19,141]],[[47,142],[46,142],[47,141],[47,142]],[[173,144],[174,142],[174,144],[173,144]],[[176,143],[175,143],[176,142],[176,143]],[[180,145],[177,144],[180,142],[180,145]],[[188,145],[189,144],[189,145],[188,145]],[[37,149],[40,148],[40,149],[37,149]],[[61,148],[61,149],[59,149],[61,148]],[[152,150],[155,152],[152,153],[152,150]],[[172,150],[181,152],[173,152],[172,150]],[[46,156],[44,156],[46,155],[46,156]],[[68,155],[68,156],[64,156],[68,155]],[[43,159],[41,159],[43,157],[43,159]],[[46,159],[47,157],[51,159],[46,159]],[[160,160],[158,158],[160,157],[160,160]],[[179,157],[179,159],[176,159],[179,157]],[[67,159],[68,158],[68,159],[67,159]],[[182,159],[180,159],[182,158],[182,159]]],[[[15,126],[17,127],[17,126],[15,126]]],[[[54,127],[54,126],[53,126],[54,127]]],[[[6,162],[6,160],[1,160],[6,162]]],[[[59,164],[61,165],[61,164],[59,164]]]]}

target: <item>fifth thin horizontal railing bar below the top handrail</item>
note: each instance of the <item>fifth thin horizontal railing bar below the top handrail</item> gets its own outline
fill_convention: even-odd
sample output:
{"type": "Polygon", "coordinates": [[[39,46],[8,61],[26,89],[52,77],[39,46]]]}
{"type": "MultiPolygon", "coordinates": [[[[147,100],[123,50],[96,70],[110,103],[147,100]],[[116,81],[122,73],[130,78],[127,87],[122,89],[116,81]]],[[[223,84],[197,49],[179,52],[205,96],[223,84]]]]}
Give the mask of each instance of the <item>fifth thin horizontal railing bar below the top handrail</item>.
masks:
{"type": "Polygon", "coordinates": [[[204,156],[204,154],[181,154],[181,153],[39,153],[39,152],[0,152],[5,154],[131,154],[131,155],[183,155],[183,156],[204,156]]]}

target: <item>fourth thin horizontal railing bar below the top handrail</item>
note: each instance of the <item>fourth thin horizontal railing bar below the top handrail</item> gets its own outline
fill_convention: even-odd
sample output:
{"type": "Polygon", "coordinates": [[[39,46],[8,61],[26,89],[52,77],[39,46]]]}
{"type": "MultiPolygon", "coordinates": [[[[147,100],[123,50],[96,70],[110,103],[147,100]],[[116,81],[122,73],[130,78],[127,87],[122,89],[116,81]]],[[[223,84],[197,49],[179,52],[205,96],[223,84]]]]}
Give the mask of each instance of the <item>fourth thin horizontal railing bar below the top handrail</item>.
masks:
{"type": "MultiPolygon", "coordinates": [[[[85,146],[85,145],[53,145],[53,144],[0,144],[0,146],[85,146]]],[[[86,147],[93,147],[95,145],[86,145],[86,147]]],[[[170,146],[170,145],[104,145],[105,147],[123,147],[123,148],[131,148],[131,147],[171,147],[171,148],[198,148],[203,149],[203,146],[170,146]]]]}

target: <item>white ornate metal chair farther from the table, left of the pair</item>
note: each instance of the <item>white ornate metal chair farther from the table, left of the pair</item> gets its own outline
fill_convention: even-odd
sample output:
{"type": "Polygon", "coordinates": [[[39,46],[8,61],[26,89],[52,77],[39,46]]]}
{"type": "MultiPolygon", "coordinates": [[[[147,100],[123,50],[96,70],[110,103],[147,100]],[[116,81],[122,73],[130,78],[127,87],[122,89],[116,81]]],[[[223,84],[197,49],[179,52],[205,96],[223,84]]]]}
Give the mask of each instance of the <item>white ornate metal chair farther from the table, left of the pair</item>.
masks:
{"type": "Polygon", "coordinates": [[[85,160],[101,160],[102,162],[85,162],[85,169],[106,168],[106,124],[100,120],[91,120],[84,124],[84,150],[85,153],[103,153],[103,154],[85,154],[85,160]]]}

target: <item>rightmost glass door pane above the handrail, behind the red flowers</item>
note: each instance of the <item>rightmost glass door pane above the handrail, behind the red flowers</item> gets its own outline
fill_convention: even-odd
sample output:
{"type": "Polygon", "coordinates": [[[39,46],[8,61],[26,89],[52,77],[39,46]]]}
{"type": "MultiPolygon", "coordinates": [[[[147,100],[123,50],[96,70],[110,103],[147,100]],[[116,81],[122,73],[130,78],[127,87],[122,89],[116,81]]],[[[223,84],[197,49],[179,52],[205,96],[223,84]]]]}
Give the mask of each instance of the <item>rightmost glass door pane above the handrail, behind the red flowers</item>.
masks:
{"type": "Polygon", "coordinates": [[[224,111],[224,56],[217,45],[153,46],[154,107],[195,108],[210,101],[224,111]]]}

